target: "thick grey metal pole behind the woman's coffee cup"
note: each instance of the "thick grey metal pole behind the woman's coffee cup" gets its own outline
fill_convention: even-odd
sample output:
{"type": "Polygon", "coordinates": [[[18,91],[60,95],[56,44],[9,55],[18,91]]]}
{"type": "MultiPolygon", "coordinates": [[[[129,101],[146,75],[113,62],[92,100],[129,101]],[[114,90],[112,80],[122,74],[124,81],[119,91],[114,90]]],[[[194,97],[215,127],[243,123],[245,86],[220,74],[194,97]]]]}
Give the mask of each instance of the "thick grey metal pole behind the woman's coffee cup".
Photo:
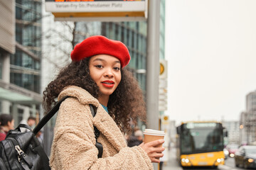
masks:
{"type": "MultiPolygon", "coordinates": [[[[160,1],[149,0],[146,54],[146,127],[159,129],[159,18],[160,1]]],[[[158,164],[153,164],[158,169],[158,164]]]]}

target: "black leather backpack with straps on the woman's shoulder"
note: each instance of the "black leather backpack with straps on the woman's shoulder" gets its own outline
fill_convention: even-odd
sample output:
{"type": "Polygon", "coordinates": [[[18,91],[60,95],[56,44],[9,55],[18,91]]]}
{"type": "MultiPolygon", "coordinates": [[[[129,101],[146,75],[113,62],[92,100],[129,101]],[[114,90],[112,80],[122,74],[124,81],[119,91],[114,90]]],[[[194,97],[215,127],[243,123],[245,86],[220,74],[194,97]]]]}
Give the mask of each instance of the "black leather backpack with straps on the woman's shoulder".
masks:
{"type": "MultiPolygon", "coordinates": [[[[15,130],[10,130],[6,135],[6,139],[0,142],[0,169],[1,170],[48,170],[49,159],[41,147],[40,142],[36,138],[37,132],[55,115],[62,103],[69,96],[63,97],[56,105],[45,115],[42,120],[31,130],[28,125],[20,124],[15,130]],[[21,128],[27,128],[29,132],[21,132],[21,128]]],[[[95,116],[95,110],[90,105],[92,116],[95,116]]],[[[95,137],[99,137],[100,132],[95,128],[95,137]]],[[[99,150],[98,157],[102,157],[103,147],[96,142],[99,150]]]]}

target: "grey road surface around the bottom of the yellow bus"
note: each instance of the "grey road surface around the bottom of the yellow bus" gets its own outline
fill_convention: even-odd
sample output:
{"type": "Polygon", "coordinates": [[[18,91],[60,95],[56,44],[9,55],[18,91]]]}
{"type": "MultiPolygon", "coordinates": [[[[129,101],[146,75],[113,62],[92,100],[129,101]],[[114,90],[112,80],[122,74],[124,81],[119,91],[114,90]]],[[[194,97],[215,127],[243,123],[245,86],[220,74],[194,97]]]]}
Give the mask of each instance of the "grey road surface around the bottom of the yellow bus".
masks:
{"type": "MultiPolygon", "coordinates": [[[[178,162],[176,161],[175,149],[171,149],[171,151],[168,152],[167,154],[168,154],[168,162],[164,162],[163,170],[183,170],[181,166],[179,166],[178,162]]],[[[187,169],[190,170],[191,168],[187,168],[187,169]]],[[[193,170],[195,169],[206,170],[206,169],[213,169],[213,168],[207,168],[207,167],[193,168],[193,170]]],[[[220,165],[215,170],[243,170],[243,169],[235,167],[234,158],[228,158],[228,159],[225,159],[225,165],[220,165]]]]}

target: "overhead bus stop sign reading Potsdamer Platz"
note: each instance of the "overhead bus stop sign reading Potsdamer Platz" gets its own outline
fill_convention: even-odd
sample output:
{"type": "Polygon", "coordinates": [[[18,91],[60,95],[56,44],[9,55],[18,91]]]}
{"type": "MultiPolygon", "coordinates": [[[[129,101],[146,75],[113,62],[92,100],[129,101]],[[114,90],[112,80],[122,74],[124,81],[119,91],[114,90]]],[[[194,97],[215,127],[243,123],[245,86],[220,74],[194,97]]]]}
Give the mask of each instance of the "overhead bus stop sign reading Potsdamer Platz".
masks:
{"type": "Polygon", "coordinates": [[[58,21],[145,21],[147,8],[148,0],[46,0],[46,11],[58,21]]]}

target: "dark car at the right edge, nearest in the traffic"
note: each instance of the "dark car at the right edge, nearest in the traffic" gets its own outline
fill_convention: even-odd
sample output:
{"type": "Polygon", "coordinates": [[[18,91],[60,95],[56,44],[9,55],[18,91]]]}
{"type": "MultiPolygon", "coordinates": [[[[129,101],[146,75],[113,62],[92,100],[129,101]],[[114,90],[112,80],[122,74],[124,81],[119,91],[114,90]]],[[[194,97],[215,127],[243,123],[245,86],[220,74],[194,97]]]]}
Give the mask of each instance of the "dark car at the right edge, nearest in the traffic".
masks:
{"type": "Polygon", "coordinates": [[[242,168],[256,168],[256,145],[241,146],[235,152],[235,166],[242,168]]]}

